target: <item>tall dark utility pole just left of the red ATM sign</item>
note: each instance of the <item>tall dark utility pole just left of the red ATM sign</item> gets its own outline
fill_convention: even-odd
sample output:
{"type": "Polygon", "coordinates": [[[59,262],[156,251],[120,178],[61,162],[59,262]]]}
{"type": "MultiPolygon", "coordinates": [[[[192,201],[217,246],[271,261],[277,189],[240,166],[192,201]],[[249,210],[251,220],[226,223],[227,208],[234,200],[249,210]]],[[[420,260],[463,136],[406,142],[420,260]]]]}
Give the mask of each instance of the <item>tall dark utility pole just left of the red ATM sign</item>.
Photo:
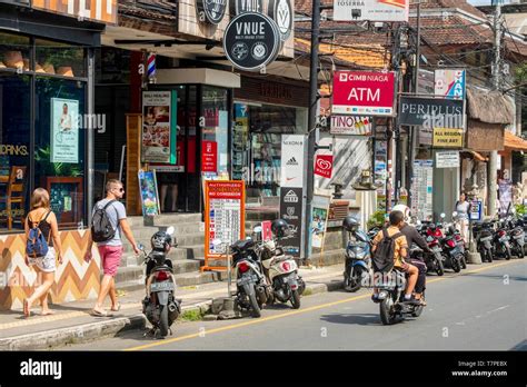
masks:
{"type": "Polygon", "coordinates": [[[308,118],[308,157],[307,157],[307,187],[306,187],[306,224],[304,225],[304,256],[310,256],[310,232],[311,232],[311,206],[315,190],[315,136],[317,127],[317,102],[318,102],[318,44],[320,36],[320,0],[312,0],[311,16],[311,60],[309,69],[309,118],[308,118]]]}

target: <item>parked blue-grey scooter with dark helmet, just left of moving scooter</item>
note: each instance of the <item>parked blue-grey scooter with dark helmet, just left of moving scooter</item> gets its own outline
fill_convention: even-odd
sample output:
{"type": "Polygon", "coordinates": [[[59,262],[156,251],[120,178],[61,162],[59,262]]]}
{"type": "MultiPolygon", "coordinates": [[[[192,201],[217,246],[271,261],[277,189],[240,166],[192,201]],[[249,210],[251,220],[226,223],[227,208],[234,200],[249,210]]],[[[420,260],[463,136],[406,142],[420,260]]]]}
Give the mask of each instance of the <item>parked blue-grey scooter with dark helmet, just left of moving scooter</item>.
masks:
{"type": "Polygon", "coordinates": [[[372,276],[371,239],[360,229],[358,220],[352,216],[344,219],[342,228],[348,232],[344,288],[346,291],[357,291],[361,284],[368,281],[372,276]]]}

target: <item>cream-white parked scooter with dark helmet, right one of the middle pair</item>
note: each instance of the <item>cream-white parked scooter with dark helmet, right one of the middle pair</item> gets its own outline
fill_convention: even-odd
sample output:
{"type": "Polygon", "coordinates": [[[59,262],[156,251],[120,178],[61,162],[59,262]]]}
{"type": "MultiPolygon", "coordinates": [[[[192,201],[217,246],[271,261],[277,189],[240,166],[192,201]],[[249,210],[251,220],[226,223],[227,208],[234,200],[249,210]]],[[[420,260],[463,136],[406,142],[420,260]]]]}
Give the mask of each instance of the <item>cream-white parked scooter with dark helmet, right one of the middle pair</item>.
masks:
{"type": "MultiPolygon", "coordinates": [[[[274,300],[284,304],[291,301],[292,308],[299,309],[300,296],[306,289],[306,284],[298,275],[298,265],[292,256],[285,255],[280,246],[281,240],[290,238],[288,230],[289,226],[284,219],[274,220],[271,224],[274,238],[257,244],[256,252],[272,287],[272,297],[267,304],[272,304],[274,300]]],[[[261,227],[255,228],[255,235],[261,235],[261,227]]]]}

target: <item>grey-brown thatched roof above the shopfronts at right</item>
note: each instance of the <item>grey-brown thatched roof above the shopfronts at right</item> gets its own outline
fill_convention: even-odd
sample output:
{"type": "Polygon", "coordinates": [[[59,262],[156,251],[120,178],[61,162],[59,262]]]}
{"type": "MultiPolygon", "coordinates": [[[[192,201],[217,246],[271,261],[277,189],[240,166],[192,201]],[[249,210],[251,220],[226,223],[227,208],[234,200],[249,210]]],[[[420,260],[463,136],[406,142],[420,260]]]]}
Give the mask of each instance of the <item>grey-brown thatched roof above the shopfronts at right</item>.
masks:
{"type": "Polygon", "coordinates": [[[499,91],[467,86],[468,117],[487,123],[514,123],[513,102],[499,91]]]}

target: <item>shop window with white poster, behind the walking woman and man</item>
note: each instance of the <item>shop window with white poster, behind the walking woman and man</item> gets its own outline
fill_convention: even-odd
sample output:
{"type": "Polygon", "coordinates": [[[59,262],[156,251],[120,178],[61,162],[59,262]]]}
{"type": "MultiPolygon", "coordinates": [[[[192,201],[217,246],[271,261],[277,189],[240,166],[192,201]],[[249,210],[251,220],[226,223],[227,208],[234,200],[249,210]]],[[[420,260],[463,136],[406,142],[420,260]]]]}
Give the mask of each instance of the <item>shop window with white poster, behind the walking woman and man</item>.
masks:
{"type": "Polygon", "coordinates": [[[84,82],[37,77],[34,187],[50,194],[59,227],[86,225],[84,82]]]}

